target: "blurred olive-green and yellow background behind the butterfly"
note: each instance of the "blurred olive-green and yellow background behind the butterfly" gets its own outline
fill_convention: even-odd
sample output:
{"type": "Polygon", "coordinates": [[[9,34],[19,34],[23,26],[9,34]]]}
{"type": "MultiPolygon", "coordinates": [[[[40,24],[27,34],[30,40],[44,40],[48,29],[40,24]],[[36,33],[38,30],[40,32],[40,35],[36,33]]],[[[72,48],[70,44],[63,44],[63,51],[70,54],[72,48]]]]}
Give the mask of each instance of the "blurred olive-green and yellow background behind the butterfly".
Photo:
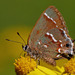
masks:
{"type": "Polygon", "coordinates": [[[62,13],[75,39],[75,0],[0,0],[0,75],[15,75],[13,63],[22,51],[20,44],[5,39],[23,42],[18,31],[27,42],[41,13],[51,5],[62,13]]]}

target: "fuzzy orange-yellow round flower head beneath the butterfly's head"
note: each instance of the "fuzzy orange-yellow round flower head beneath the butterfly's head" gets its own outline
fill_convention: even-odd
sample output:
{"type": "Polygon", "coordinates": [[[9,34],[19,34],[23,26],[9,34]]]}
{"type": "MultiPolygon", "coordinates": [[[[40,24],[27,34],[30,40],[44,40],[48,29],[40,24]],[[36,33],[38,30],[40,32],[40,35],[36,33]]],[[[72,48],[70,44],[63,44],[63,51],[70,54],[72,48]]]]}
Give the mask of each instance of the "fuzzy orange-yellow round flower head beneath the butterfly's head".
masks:
{"type": "Polygon", "coordinates": [[[29,56],[19,58],[18,60],[15,60],[15,71],[17,75],[24,75],[36,68],[36,62],[34,59],[30,59],[29,56]]]}

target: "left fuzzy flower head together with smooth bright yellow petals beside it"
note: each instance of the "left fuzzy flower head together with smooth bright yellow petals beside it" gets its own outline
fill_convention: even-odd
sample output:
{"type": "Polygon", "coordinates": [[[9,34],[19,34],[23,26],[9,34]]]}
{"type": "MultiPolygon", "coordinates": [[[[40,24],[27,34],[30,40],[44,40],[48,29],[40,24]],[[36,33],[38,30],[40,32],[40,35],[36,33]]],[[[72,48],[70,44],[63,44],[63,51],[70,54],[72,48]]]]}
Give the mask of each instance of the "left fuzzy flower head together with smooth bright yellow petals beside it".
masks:
{"type": "Polygon", "coordinates": [[[15,71],[17,75],[57,75],[54,71],[43,67],[37,66],[34,59],[30,59],[29,56],[19,58],[15,60],[15,71]],[[36,68],[37,66],[37,68],[36,68]]]}

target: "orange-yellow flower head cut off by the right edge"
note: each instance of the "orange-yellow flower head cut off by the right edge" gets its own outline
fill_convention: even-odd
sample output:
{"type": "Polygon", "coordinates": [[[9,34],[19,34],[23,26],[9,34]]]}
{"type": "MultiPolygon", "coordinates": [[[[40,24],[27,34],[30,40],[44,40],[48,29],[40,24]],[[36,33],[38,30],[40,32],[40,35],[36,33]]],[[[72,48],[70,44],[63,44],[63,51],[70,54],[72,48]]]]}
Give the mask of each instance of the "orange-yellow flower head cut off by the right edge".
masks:
{"type": "Polygon", "coordinates": [[[75,58],[72,58],[66,63],[65,71],[71,74],[75,74],[75,58]]]}

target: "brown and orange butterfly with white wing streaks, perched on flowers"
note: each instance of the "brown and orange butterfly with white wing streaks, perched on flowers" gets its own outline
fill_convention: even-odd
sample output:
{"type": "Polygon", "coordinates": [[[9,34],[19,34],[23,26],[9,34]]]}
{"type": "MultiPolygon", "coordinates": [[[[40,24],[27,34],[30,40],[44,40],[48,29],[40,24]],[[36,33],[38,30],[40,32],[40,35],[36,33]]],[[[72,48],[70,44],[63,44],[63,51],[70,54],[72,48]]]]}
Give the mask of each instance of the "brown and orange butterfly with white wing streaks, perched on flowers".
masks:
{"type": "Polygon", "coordinates": [[[74,41],[68,34],[61,13],[50,6],[41,14],[29,35],[27,45],[22,45],[22,48],[32,58],[56,65],[56,59],[70,59],[74,56],[74,41]]]}

